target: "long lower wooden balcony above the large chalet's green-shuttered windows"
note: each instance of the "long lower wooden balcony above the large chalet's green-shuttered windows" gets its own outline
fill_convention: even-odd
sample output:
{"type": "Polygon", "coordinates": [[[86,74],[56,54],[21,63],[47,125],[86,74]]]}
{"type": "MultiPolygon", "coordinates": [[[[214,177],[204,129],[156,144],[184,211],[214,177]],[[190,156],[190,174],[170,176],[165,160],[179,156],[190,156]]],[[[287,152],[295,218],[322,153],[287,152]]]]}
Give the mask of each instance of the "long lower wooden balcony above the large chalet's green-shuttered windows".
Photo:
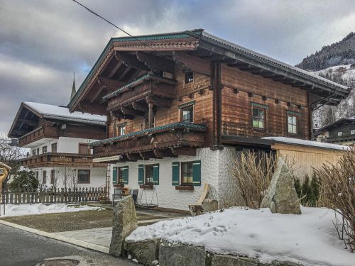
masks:
{"type": "Polygon", "coordinates": [[[121,155],[120,162],[150,158],[196,155],[196,148],[204,147],[207,127],[193,123],[172,123],[147,128],[115,138],[92,143],[94,157],[121,155]]]}

